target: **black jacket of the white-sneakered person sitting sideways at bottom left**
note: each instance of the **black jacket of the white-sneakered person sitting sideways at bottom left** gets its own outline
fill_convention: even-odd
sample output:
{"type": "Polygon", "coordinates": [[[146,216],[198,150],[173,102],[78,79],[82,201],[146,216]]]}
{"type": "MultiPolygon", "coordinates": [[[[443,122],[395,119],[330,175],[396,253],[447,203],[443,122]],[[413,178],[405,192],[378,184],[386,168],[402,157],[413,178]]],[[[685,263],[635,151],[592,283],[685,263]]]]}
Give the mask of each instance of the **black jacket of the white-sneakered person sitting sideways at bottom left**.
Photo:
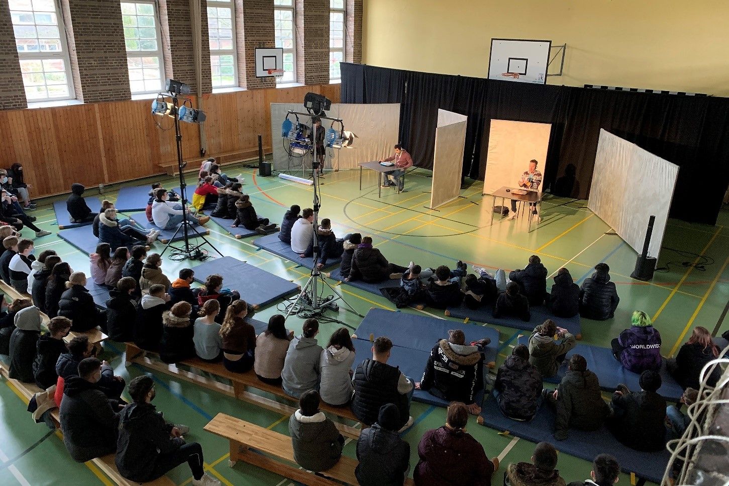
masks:
{"type": "Polygon", "coordinates": [[[174,425],[165,423],[152,404],[132,403],[119,412],[119,441],[114,463],[119,473],[133,482],[148,482],[160,454],[170,454],[184,444],[170,436],[174,425]]]}

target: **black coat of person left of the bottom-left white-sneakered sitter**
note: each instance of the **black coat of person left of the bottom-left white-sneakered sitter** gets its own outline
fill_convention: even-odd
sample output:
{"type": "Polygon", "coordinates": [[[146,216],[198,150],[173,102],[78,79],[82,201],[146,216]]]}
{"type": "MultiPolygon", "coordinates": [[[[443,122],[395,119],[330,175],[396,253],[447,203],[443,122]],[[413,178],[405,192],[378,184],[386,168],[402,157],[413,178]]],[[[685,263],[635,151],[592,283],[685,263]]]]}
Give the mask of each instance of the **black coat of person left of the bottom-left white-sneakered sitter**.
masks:
{"type": "Polygon", "coordinates": [[[95,383],[82,377],[64,379],[61,401],[63,444],[79,463],[117,450],[119,413],[95,383]]]}

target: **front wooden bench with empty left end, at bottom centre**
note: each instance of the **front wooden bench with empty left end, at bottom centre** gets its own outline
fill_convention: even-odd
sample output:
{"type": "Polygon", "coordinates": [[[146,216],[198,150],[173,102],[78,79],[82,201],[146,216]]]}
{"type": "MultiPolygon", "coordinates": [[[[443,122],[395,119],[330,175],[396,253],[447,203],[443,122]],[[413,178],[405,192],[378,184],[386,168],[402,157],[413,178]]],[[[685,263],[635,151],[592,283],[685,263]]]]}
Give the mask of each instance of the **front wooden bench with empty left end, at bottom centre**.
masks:
{"type": "MultiPolygon", "coordinates": [[[[354,476],[356,459],[342,456],[336,466],[322,473],[327,477],[321,477],[296,465],[291,438],[282,433],[269,431],[267,428],[222,413],[217,414],[203,429],[230,441],[228,463],[231,467],[235,466],[238,460],[243,460],[304,485],[332,486],[340,485],[342,482],[347,485],[359,485],[354,476]]],[[[413,486],[413,484],[410,478],[405,481],[405,485],[413,486]]]]}

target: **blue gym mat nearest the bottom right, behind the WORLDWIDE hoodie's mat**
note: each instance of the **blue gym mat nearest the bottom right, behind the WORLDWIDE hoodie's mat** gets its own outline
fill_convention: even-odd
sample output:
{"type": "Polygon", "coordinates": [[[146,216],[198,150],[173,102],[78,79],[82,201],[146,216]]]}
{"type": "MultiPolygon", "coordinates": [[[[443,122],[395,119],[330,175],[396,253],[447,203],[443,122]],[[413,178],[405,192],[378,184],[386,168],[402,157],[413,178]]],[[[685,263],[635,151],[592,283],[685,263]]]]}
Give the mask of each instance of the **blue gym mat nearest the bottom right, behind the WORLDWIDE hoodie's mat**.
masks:
{"type": "Polygon", "coordinates": [[[640,452],[620,444],[615,436],[601,428],[599,431],[577,431],[569,429],[569,437],[558,441],[552,436],[554,430],[555,414],[549,406],[539,408],[537,415],[529,422],[511,420],[502,414],[494,396],[489,395],[483,401],[481,409],[483,425],[497,431],[509,431],[512,436],[521,437],[535,444],[545,441],[552,444],[557,450],[574,455],[592,462],[597,455],[609,452],[617,459],[623,472],[635,473],[649,481],[660,483],[663,471],[666,471],[668,458],[667,450],[660,452],[640,452]]]}

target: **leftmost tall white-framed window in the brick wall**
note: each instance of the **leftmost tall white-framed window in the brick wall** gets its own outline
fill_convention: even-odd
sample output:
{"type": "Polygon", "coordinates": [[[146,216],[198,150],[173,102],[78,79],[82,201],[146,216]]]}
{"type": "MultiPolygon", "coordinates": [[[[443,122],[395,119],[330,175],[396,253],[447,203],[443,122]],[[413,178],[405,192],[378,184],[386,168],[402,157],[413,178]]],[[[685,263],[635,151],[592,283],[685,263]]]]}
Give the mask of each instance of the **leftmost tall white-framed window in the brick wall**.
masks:
{"type": "Polygon", "coordinates": [[[72,99],[71,61],[63,20],[53,0],[9,0],[28,102],[72,99]]]}

